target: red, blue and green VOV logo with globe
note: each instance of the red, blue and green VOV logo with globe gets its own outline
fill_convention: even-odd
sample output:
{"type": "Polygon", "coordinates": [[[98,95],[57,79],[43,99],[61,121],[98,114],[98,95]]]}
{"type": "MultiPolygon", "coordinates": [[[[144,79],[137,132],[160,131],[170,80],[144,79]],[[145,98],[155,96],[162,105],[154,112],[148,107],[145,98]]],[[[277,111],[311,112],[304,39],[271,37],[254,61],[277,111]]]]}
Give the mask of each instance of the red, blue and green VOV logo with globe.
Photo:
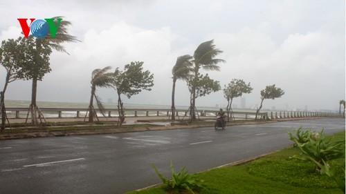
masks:
{"type": "Polygon", "coordinates": [[[28,26],[28,19],[18,18],[19,23],[21,24],[21,30],[23,30],[24,37],[28,38],[29,32],[37,39],[42,39],[48,35],[48,32],[51,32],[51,36],[54,39],[57,34],[57,28],[59,28],[61,18],[57,19],[57,26],[55,26],[54,18],[46,19],[30,19],[30,27],[28,26]]]}

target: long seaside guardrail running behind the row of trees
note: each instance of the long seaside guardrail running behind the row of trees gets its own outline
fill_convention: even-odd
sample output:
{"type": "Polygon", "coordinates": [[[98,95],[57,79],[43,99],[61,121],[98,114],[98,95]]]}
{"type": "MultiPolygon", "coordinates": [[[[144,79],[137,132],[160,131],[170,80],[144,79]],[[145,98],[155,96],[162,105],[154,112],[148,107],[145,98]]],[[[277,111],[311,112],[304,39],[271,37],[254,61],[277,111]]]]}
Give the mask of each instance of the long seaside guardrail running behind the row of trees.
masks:
{"type": "MultiPolygon", "coordinates": [[[[88,108],[40,108],[46,118],[81,118],[85,117],[88,108]],[[67,114],[68,113],[68,114],[67,114]],[[82,113],[82,114],[81,114],[82,113]]],[[[99,109],[95,109],[100,117],[99,109]]],[[[28,108],[6,108],[9,118],[26,118],[28,108]]],[[[199,117],[215,118],[218,110],[198,110],[199,117]]],[[[118,117],[118,109],[106,108],[104,109],[105,117],[118,117]]],[[[177,109],[175,115],[186,117],[189,115],[189,110],[177,109]]],[[[255,119],[256,113],[254,112],[231,112],[233,119],[255,119]]],[[[149,117],[149,116],[166,116],[172,115],[170,109],[161,108],[127,108],[125,109],[127,117],[149,117]]],[[[29,114],[30,117],[30,114],[29,114]]],[[[258,116],[260,119],[282,119],[282,118],[296,118],[296,117],[341,117],[336,113],[320,113],[320,112],[297,112],[297,111],[275,111],[275,112],[262,112],[258,116]]]]}

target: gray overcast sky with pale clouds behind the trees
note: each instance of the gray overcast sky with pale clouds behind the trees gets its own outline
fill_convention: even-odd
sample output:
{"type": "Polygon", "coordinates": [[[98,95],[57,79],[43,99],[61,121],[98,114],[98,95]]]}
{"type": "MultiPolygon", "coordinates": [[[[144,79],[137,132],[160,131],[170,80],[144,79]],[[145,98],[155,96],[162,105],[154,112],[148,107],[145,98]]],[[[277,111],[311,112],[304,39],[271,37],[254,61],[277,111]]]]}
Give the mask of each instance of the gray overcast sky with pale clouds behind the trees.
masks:
{"type": "MultiPolygon", "coordinates": [[[[17,38],[17,18],[64,16],[80,43],[66,43],[71,55],[54,51],[51,73],[39,82],[40,101],[89,100],[91,71],[123,68],[144,61],[154,88],[125,103],[170,104],[171,70],[176,57],[193,55],[199,43],[215,39],[224,52],[220,72],[208,72],[224,88],[231,79],[251,82],[246,106],[260,104],[260,90],[276,84],[280,99],[264,108],[338,110],[345,99],[345,1],[116,0],[0,2],[0,40],[17,38]]],[[[204,72],[206,73],[206,72],[204,72]]],[[[0,68],[0,87],[5,69],[0,68]]],[[[178,81],[176,104],[188,105],[188,88],[178,81]]],[[[116,101],[116,92],[99,89],[116,101]]],[[[10,84],[7,99],[30,99],[31,82],[10,84]]],[[[240,99],[235,99],[240,106],[240,99]]],[[[226,104],[222,91],[197,99],[197,106],[226,104]]]]}

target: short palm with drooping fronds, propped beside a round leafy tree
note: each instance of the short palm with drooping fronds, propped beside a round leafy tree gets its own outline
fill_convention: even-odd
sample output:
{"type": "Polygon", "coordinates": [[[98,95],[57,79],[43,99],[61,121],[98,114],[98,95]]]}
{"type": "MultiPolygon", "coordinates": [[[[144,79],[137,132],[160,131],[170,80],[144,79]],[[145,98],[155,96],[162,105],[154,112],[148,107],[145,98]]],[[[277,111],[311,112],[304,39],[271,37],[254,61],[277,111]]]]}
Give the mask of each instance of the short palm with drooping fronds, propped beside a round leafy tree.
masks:
{"type": "Polygon", "coordinates": [[[97,116],[95,112],[95,108],[93,107],[93,98],[95,97],[96,104],[98,105],[98,108],[100,109],[101,113],[104,113],[104,106],[102,104],[102,101],[100,97],[96,95],[96,87],[100,88],[111,88],[113,87],[113,75],[111,72],[107,72],[111,70],[111,67],[105,67],[102,69],[95,69],[91,73],[91,97],[89,102],[89,122],[93,122],[93,117],[97,116]]]}

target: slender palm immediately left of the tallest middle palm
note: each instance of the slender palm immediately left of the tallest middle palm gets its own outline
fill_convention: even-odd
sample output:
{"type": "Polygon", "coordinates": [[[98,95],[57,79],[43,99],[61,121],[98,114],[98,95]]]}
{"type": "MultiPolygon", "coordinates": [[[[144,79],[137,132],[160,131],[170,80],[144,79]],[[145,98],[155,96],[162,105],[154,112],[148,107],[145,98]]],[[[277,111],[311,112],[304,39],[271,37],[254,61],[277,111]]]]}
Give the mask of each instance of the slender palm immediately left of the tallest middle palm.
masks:
{"type": "Polygon", "coordinates": [[[172,120],[175,120],[175,103],[174,103],[174,96],[175,96],[175,83],[177,79],[187,80],[189,77],[191,77],[192,72],[192,62],[191,62],[192,56],[190,55],[183,55],[176,59],[176,64],[172,68],[172,79],[173,79],[173,86],[172,86],[172,120]]]}

